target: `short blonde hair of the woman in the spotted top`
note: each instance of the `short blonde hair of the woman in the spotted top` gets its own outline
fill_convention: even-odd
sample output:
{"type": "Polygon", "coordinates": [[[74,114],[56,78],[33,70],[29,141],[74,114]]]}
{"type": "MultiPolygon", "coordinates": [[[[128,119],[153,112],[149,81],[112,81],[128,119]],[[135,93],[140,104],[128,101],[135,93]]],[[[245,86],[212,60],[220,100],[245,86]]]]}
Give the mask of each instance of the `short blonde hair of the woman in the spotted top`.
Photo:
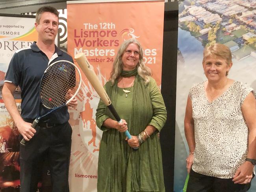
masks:
{"type": "Polygon", "coordinates": [[[226,60],[226,63],[228,65],[232,63],[232,55],[231,55],[230,49],[224,44],[215,43],[211,46],[206,47],[204,49],[203,63],[206,57],[208,56],[221,57],[222,59],[226,60]]]}

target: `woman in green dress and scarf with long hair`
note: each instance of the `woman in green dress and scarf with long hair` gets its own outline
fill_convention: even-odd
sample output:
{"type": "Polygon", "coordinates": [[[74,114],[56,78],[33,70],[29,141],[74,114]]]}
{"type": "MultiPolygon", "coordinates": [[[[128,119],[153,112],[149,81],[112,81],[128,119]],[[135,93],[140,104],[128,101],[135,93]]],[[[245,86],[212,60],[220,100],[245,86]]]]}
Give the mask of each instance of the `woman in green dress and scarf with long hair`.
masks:
{"type": "Polygon", "coordinates": [[[158,133],[165,124],[166,109],[151,74],[139,42],[124,41],[104,86],[123,123],[101,100],[96,113],[97,126],[103,131],[98,192],[165,192],[158,133]],[[124,134],[127,129],[132,135],[129,140],[124,134]]]}

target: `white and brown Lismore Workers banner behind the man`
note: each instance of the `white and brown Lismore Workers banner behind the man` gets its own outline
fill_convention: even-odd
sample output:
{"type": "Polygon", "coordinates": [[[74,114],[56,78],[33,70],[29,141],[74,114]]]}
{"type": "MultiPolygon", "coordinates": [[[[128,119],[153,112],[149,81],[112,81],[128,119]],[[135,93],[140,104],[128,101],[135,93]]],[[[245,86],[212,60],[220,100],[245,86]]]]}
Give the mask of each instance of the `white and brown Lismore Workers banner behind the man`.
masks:
{"type": "MultiPolygon", "coordinates": [[[[2,88],[9,62],[15,51],[30,46],[37,40],[35,18],[0,15],[0,187],[18,190],[19,180],[19,131],[2,100],[2,88]]],[[[20,89],[14,98],[20,111],[20,89]]]]}

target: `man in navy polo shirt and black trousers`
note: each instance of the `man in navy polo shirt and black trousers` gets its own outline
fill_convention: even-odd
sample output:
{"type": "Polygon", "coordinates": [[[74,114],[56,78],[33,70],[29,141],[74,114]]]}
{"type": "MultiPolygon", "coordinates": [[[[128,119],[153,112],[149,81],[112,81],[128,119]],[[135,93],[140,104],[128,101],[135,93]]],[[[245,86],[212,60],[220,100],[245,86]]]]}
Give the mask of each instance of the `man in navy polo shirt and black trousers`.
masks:
{"type": "MultiPolygon", "coordinates": [[[[38,40],[28,48],[17,50],[6,73],[2,96],[7,110],[17,126],[21,138],[29,141],[20,145],[20,192],[37,191],[41,163],[45,157],[50,164],[52,191],[69,192],[69,159],[72,129],[68,123],[69,113],[63,107],[50,114],[37,129],[31,127],[33,120],[45,114],[39,97],[41,77],[48,65],[58,60],[73,62],[70,55],[59,50],[54,39],[58,32],[59,13],[54,7],[41,7],[35,18],[38,40]],[[21,93],[21,115],[13,93],[17,86],[21,93]]],[[[76,99],[69,107],[76,107],[76,99]]]]}

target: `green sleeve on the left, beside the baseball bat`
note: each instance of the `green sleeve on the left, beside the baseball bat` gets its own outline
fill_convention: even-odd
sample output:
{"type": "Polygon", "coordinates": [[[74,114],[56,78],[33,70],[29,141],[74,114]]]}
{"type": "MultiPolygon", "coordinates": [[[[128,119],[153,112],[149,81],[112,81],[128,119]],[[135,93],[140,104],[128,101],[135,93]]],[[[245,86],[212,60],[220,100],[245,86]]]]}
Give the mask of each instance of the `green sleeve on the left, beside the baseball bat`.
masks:
{"type": "MultiPolygon", "coordinates": [[[[104,89],[106,90],[106,85],[104,85],[104,89]]],[[[101,129],[102,131],[108,130],[107,127],[102,126],[104,121],[107,118],[110,118],[107,115],[106,110],[107,110],[107,106],[100,99],[100,102],[98,103],[98,108],[96,109],[96,124],[97,124],[98,128],[101,129]]]]}

